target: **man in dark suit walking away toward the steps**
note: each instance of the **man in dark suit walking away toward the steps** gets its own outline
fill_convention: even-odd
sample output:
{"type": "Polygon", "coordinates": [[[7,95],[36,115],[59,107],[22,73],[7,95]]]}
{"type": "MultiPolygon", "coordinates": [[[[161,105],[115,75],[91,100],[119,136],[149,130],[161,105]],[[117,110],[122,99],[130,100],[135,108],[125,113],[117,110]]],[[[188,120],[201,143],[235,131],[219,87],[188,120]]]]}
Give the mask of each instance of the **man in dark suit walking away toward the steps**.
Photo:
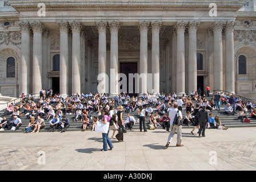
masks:
{"type": "Polygon", "coordinates": [[[199,137],[201,136],[201,133],[202,137],[205,137],[205,127],[207,122],[209,122],[209,113],[205,106],[203,106],[202,109],[197,112],[197,117],[200,125],[200,129],[198,131],[199,137]]]}

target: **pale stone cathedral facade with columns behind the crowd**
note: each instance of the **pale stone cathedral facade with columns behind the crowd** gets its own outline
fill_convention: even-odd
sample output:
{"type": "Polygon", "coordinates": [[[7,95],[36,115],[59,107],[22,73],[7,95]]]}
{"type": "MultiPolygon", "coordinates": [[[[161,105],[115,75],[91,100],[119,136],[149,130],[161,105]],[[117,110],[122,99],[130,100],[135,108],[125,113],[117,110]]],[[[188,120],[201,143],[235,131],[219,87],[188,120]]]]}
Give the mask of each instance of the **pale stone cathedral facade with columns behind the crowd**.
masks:
{"type": "Polygon", "coordinates": [[[256,96],[255,0],[0,2],[3,96],[97,93],[100,73],[110,95],[121,90],[118,73],[151,73],[153,82],[126,81],[126,93],[208,85],[256,96]]]}

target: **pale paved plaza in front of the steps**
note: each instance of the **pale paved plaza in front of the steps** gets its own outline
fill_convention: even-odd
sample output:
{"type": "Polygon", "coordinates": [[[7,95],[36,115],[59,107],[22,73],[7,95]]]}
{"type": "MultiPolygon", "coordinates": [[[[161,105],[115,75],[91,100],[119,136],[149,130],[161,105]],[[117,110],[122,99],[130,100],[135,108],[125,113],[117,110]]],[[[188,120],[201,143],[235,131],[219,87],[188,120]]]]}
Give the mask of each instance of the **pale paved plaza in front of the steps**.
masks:
{"type": "Polygon", "coordinates": [[[175,147],[175,135],[167,149],[165,130],[128,131],[124,142],[112,139],[111,151],[88,130],[0,133],[0,171],[256,170],[256,127],[207,129],[206,137],[190,131],[183,129],[184,147],[175,147]]]}

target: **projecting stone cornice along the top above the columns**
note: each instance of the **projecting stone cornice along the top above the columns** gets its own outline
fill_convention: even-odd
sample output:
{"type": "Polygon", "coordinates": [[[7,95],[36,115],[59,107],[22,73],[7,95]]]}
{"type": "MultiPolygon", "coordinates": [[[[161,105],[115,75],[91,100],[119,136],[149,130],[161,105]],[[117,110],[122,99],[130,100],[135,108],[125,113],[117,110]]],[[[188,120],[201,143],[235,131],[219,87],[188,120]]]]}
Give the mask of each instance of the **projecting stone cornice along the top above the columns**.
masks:
{"type": "MultiPolygon", "coordinates": [[[[9,1],[18,12],[37,11],[38,1],[9,1]]],[[[46,11],[209,11],[211,1],[41,1],[46,11]]],[[[238,11],[244,1],[215,1],[218,11],[238,11]]]]}

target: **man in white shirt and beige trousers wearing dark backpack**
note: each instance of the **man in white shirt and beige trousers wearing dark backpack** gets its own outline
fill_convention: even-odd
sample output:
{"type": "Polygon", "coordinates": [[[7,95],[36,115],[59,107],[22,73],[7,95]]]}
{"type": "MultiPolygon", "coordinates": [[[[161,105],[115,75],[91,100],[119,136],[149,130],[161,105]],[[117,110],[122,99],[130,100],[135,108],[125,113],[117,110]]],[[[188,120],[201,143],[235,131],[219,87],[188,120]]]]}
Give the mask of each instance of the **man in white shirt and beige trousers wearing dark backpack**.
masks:
{"type": "Polygon", "coordinates": [[[182,121],[182,113],[180,110],[178,110],[178,104],[175,103],[173,105],[174,109],[170,109],[169,110],[169,118],[170,118],[170,134],[167,140],[167,143],[165,145],[165,148],[169,147],[169,144],[171,143],[171,139],[173,139],[173,136],[175,134],[175,131],[177,131],[177,144],[176,147],[182,147],[183,144],[181,144],[182,141],[182,124],[181,123],[177,123],[175,124],[175,122],[182,121]]]}

